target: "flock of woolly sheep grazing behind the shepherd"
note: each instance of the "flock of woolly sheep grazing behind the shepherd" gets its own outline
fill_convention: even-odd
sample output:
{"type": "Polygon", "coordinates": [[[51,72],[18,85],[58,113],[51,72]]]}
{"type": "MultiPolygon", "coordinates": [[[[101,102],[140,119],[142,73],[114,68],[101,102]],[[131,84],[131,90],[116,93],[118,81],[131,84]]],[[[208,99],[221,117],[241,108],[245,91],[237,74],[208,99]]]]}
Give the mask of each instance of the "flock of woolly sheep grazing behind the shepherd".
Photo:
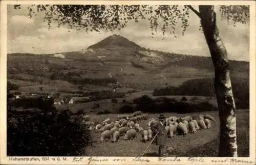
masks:
{"type": "MultiPolygon", "coordinates": [[[[133,140],[138,133],[141,135],[141,141],[146,142],[153,139],[154,132],[151,127],[156,124],[157,119],[149,119],[146,128],[142,128],[139,123],[148,120],[147,114],[140,111],[131,115],[120,115],[117,120],[105,119],[102,123],[95,125],[90,122],[90,116],[83,116],[82,122],[89,127],[91,131],[101,132],[100,143],[111,140],[112,143],[118,142],[120,136],[123,140],[133,140]]],[[[171,116],[165,119],[165,129],[167,136],[173,138],[176,134],[186,135],[187,133],[196,133],[200,129],[211,128],[211,121],[216,122],[215,118],[210,115],[171,116]]]]}

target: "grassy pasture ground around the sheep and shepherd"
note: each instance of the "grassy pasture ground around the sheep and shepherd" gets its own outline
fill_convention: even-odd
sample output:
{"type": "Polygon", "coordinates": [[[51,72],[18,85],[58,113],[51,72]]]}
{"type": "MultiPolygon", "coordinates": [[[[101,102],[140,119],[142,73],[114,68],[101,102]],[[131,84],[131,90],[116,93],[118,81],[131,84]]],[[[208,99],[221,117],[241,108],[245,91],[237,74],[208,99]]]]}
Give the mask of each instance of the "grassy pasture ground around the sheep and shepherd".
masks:
{"type": "MultiPolygon", "coordinates": [[[[218,156],[219,149],[219,118],[218,112],[175,114],[165,113],[165,116],[186,116],[210,114],[217,119],[217,123],[212,123],[211,129],[199,130],[197,133],[188,133],[185,136],[176,135],[173,139],[168,139],[166,145],[171,145],[175,152],[170,156],[218,156]]],[[[237,143],[238,156],[249,156],[249,111],[238,109],[237,113],[237,143]]],[[[115,120],[118,115],[91,115],[91,121],[98,123],[106,118],[115,120]]],[[[157,118],[159,114],[148,114],[148,119],[157,118]]],[[[140,123],[140,126],[146,128],[146,121],[140,123]]],[[[99,143],[100,133],[92,132],[93,146],[86,149],[86,156],[157,156],[158,146],[151,145],[147,152],[142,155],[150,142],[142,143],[141,135],[137,133],[133,141],[124,141],[123,136],[117,143],[105,142],[99,143]]]]}

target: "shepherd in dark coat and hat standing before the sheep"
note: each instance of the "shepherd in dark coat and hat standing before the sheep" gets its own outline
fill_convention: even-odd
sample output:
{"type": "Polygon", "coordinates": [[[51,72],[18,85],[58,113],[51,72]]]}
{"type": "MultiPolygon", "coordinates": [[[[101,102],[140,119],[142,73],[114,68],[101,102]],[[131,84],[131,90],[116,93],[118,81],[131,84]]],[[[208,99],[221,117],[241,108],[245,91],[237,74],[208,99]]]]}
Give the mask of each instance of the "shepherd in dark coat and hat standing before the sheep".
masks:
{"type": "Polygon", "coordinates": [[[151,129],[154,133],[158,133],[157,138],[156,138],[156,145],[159,145],[158,154],[159,154],[159,156],[162,156],[163,149],[164,149],[166,139],[167,139],[167,132],[166,132],[165,126],[164,126],[165,116],[163,114],[161,114],[158,117],[158,119],[159,119],[159,121],[156,122],[154,125],[152,125],[151,129]]]}

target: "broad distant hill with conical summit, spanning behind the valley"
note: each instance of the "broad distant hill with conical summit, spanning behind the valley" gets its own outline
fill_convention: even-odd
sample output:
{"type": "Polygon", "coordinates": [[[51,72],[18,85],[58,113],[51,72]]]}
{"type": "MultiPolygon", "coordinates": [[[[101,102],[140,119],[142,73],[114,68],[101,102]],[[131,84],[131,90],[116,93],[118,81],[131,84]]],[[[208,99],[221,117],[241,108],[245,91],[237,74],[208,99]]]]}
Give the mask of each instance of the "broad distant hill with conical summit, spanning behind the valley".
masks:
{"type": "MultiPolygon", "coordinates": [[[[20,86],[47,86],[43,91],[51,91],[50,86],[62,91],[91,91],[113,87],[154,90],[214,77],[210,57],[145,49],[119,35],[82,51],[61,52],[65,58],[56,58],[55,54],[8,54],[7,78],[20,86]]],[[[249,77],[249,62],[229,63],[232,77],[249,77]]]]}

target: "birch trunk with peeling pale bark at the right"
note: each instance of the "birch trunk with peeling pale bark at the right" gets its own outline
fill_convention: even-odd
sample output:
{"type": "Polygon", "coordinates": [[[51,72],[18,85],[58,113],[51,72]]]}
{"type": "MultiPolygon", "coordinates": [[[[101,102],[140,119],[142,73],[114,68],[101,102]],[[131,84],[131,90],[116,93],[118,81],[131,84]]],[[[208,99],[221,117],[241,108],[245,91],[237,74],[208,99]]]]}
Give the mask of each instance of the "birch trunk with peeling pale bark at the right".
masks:
{"type": "Polygon", "coordinates": [[[220,118],[219,157],[238,157],[234,104],[226,48],[219,36],[214,6],[199,6],[201,25],[215,67],[215,93],[220,118]]]}

